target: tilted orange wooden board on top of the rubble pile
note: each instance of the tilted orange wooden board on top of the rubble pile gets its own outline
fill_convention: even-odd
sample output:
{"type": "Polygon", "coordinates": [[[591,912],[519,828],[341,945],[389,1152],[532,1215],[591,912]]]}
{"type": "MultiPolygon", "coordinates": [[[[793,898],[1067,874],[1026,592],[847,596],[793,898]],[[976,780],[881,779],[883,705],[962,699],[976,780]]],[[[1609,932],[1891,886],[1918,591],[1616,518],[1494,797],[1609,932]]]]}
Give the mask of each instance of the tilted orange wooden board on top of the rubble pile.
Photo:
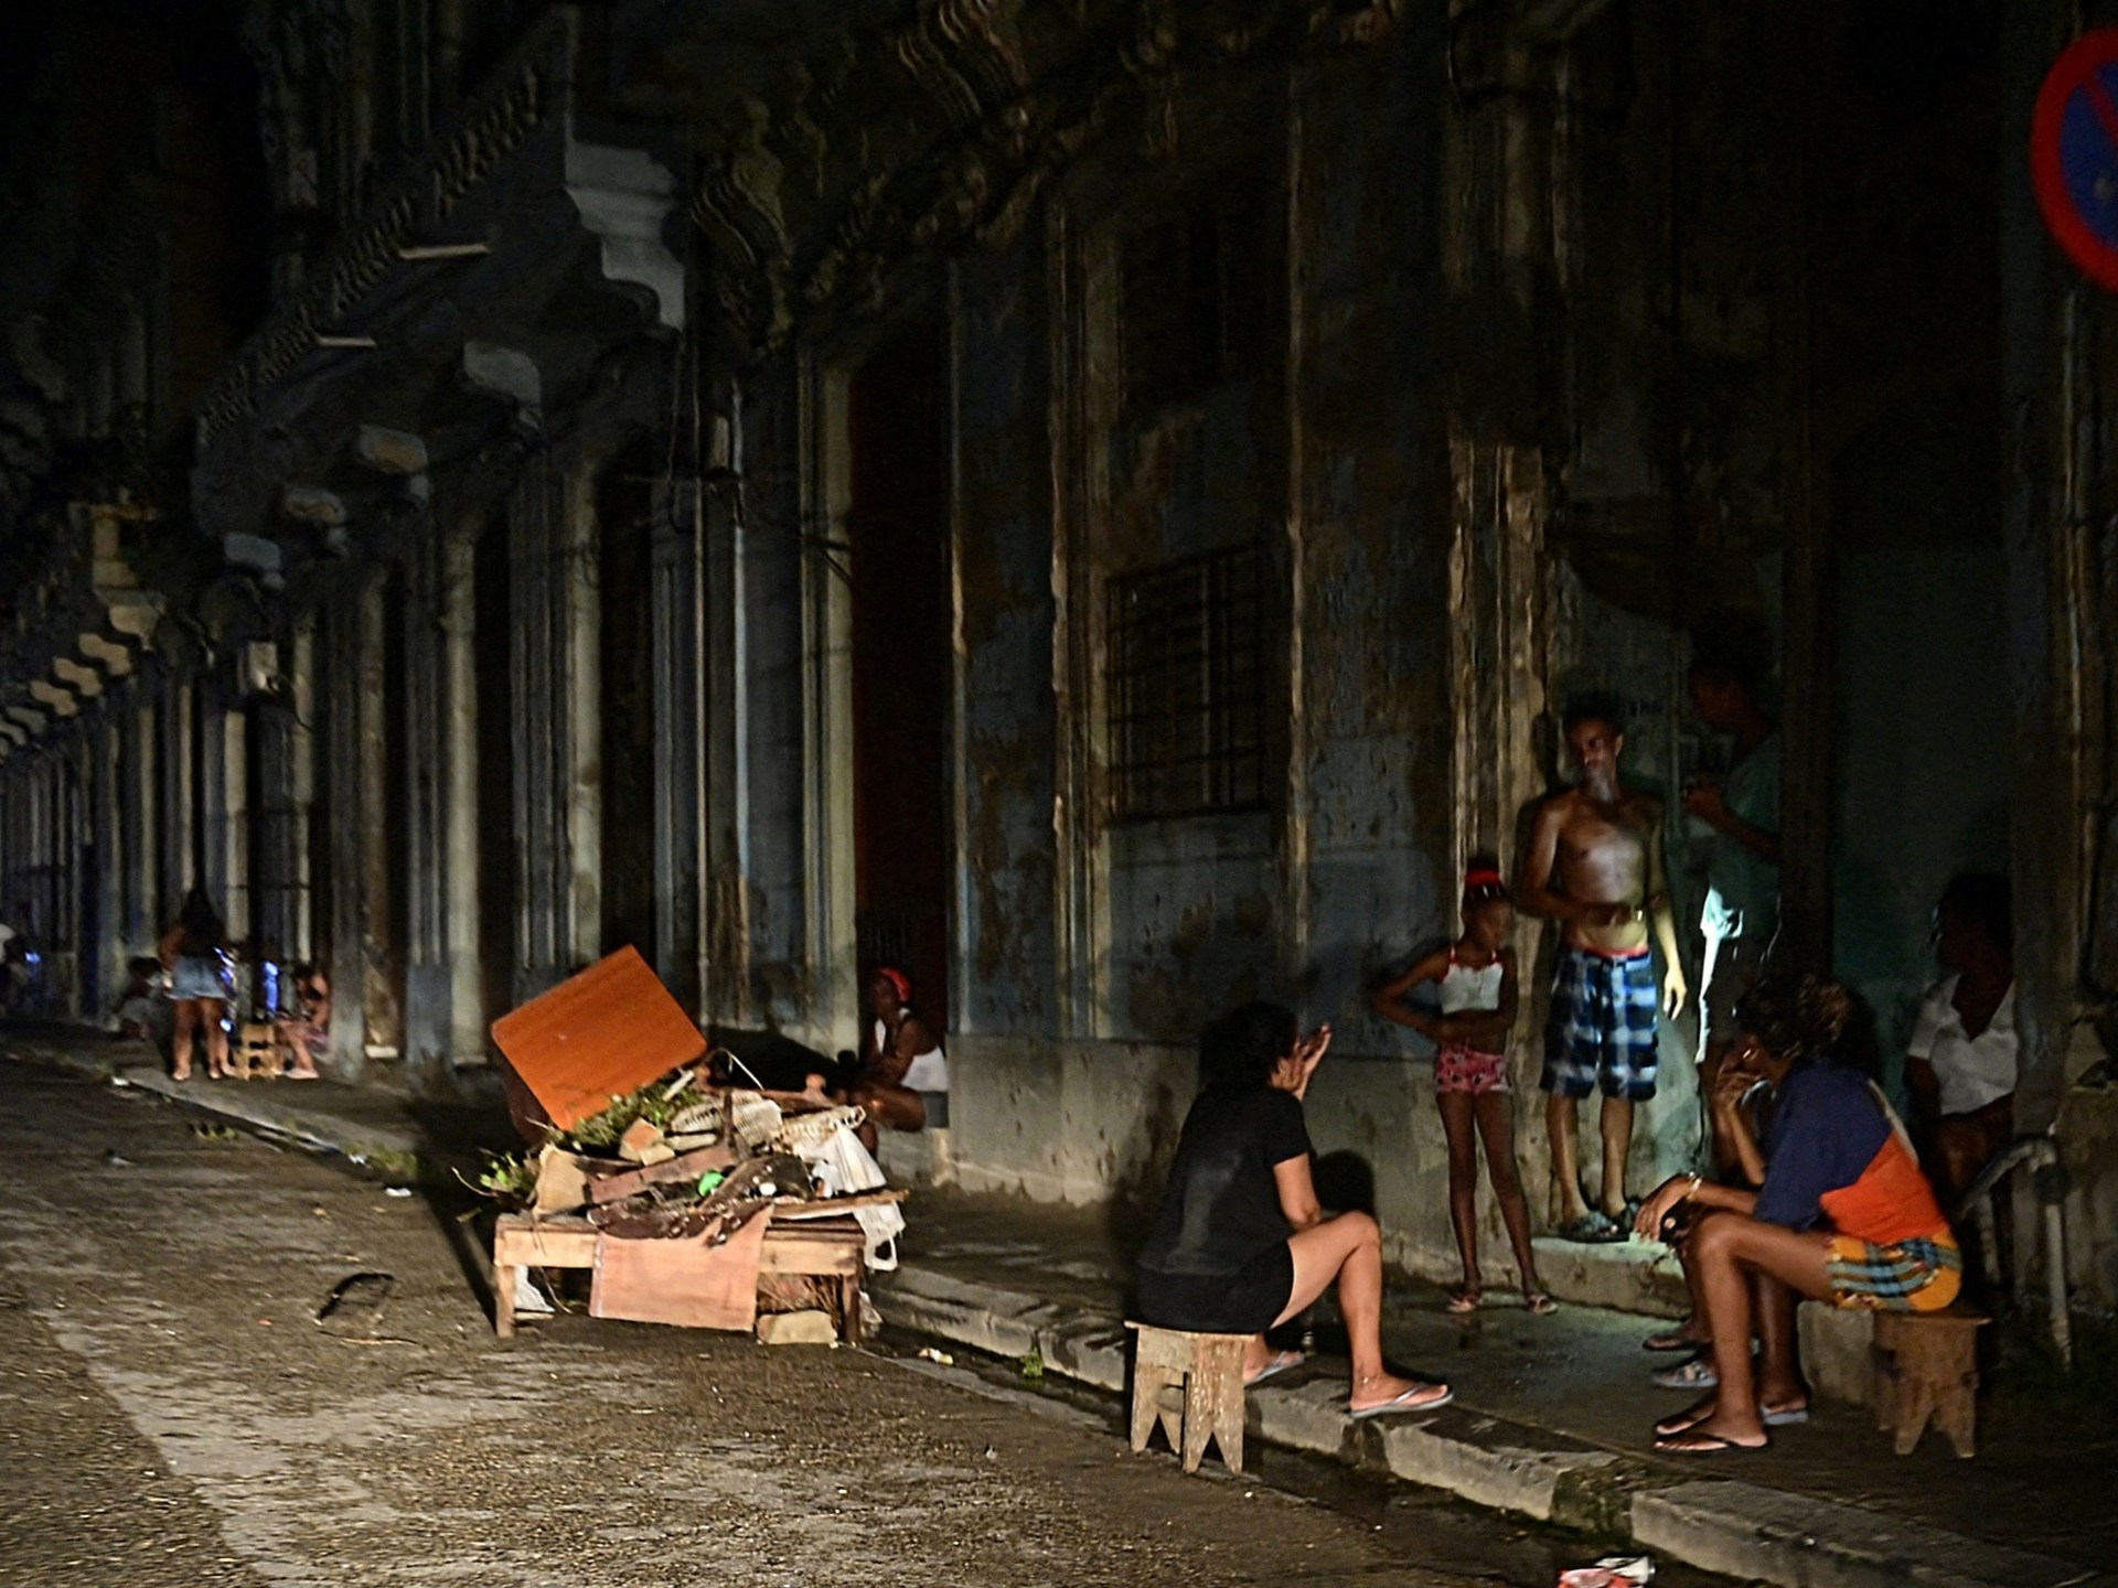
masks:
{"type": "Polygon", "coordinates": [[[561,1131],[705,1052],[705,1035],[631,946],[502,1014],[493,1044],[561,1131]]]}

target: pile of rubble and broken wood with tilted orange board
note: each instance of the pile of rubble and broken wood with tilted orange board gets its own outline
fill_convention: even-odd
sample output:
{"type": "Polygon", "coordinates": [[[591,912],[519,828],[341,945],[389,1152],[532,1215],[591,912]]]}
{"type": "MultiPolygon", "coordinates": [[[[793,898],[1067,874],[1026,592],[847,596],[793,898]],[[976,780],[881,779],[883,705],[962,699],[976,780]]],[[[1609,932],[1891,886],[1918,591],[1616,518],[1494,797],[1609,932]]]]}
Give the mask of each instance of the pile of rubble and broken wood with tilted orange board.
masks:
{"type": "Polygon", "coordinates": [[[904,1228],[904,1192],[860,1143],[858,1107],[739,1084],[739,1061],[707,1052],[633,949],[515,1010],[493,1040],[517,1124],[540,1143],[479,1177],[521,1209],[496,1232],[502,1334],[508,1258],[532,1253],[591,1268],[593,1317],[750,1330],[760,1309],[837,1311],[858,1340],[860,1283],[896,1264],[904,1228]]]}

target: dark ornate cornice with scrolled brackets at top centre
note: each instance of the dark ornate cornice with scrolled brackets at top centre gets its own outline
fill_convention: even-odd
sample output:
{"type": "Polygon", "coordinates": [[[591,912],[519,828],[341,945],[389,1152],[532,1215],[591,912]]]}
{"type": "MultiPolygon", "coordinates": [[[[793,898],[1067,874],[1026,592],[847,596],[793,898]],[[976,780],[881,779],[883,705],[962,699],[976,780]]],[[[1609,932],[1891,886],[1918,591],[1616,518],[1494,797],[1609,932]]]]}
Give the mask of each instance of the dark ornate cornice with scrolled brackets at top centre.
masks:
{"type": "Polygon", "coordinates": [[[1004,243],[1051,178],[1190,61],[1372,44],[1398,0],[923,0],[769,89],[707,85],[693,216],[729,337],[762,351],[875,305],[919,254],[1004,243]]]}

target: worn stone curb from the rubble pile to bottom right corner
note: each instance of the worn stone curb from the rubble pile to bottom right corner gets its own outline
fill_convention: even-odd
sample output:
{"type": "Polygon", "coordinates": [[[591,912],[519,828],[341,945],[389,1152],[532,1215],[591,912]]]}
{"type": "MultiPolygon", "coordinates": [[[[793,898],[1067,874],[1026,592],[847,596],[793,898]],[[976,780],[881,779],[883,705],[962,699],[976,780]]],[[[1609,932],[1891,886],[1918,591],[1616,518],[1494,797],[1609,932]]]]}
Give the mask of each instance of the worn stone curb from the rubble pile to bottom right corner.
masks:
{"type": "MultiPolygon", "coordinates": [[[[1097,1317],[955,1279],[917,1262],[879,1275],[892,1323],[995,1357],[1038,1351],[1046,1372],[1125,1393],[1127,1330],[1097,1317]]],[[[1423,1419],[1356,1423],[1343,1374],[1296,1374],[1250,1391],[1250,1436],[1366,1472],[1442,1488],[1489,1510],[1586,1533],[1705,1571],[1781,1588],[2086,1588],[2118,1577],[2071,1560],[1940,1533],[1860,1505],[1667,1467],[1548,1429],[1447,1406],[1423,1419]]]]}

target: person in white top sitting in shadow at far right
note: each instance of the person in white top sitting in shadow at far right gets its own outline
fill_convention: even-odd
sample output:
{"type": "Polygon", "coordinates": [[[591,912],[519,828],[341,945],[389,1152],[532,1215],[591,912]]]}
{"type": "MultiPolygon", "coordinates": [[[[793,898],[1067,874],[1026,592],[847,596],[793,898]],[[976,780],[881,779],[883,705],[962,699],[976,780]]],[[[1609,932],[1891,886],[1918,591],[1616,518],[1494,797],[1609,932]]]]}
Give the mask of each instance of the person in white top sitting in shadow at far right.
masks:
{"type": "Polygon", "coordinates": [[[1934,908],[1942,980],[1927,989],[1904,1084],[1927,1169],[1949,1207],[2014,1139],[2014,896],[2006,877],[1959,872],[1934,908]]]}

